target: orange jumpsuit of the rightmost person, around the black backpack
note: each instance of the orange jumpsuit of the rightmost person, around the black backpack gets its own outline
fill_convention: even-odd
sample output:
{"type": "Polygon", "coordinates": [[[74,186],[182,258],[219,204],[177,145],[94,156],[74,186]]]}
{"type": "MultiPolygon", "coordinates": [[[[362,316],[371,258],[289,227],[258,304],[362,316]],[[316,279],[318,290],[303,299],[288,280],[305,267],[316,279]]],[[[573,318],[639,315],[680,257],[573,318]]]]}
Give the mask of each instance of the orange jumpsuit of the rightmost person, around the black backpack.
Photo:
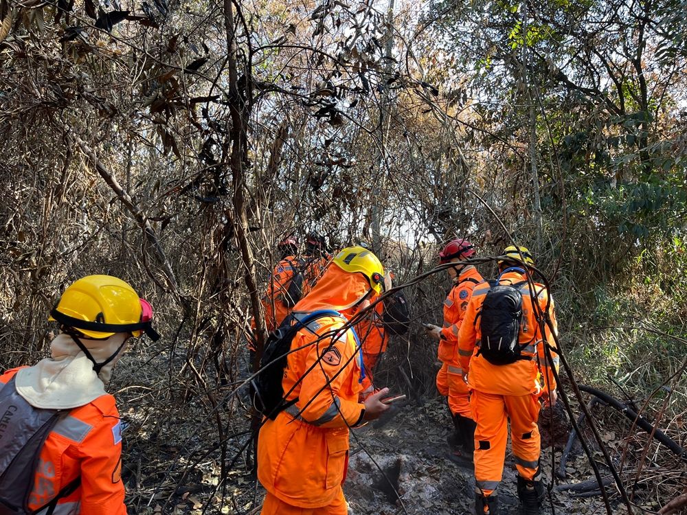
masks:
{"type": "MultiPolygon", "coordinates": [[[[501,276],[499,284],[517,285],[524,280],[525,275],[516,271],[506,271],[501,276]]],[[[484,495],[492,494],[502,479],[508,440],[508,418],[518,473],[528,481],[537,479],[541,452],[537,427],[539,397],[548,389],[556,389],[556,381],[545,359],[542,342],[545,339],[550,347],[555,347],[554,337],[547,326],[542,339],[541,328],[534,317],[532,307],[536,301],[541,312],[548,314],[557,332],[554,301],[541,284],[534,284],[534,293],[530,292],[527,283],[517,287],[523,297],[519,343],[527,344],[521,354],[532,356],[531,361],[521,360],[510,365],[492,365],[484,356],[478,355],[482,332],[479,320],[475,321],[475,318],[484,303],[488,284],[475,288],[458,335],[460,362],[463,369],[469,372],[471,407],[477,422],[475,481],[477,488],[480,488],[484,495]],[[540,383],[541,378],[544,385],[540,383]]],[[[557,369],[558,355],[554,351],[551,351],[551,355],[557,369]]]]}

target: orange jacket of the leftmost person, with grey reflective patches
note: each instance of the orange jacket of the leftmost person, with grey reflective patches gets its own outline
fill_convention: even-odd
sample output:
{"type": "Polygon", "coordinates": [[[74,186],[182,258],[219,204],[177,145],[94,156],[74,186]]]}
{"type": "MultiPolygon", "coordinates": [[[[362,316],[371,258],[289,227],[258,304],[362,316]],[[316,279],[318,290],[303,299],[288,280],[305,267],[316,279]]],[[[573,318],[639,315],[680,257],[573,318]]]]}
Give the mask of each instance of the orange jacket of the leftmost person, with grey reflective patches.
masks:
{"type": "MultiPolygon", "coordinates": [[[[0,387],[18,370],[0,376],[0,387]]],[[[30,509],[49,503],[80,476],[80,486],[58,501],[56,515],[126,515],[121,456],[121,426],[113,396],[106,394],[71,409],[43,444],[30,509]]]]}

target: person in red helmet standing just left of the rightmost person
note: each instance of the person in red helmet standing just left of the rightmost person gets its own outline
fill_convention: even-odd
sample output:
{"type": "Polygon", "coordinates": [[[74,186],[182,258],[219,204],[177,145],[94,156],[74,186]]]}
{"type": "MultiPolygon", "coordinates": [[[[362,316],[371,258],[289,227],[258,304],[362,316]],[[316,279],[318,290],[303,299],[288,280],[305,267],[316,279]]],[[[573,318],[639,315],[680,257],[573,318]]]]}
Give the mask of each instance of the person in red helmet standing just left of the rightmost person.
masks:
{"type": "MultiPolygon", "coordinates": [[[[475,255],[475,249],[468,240],[449,242],[439,253],[440,264],[458,262],[475,255]]],[[[477,284],[484,281],[474,265],[456,265],[446,269],[453,280],[453,286],[444,300],[444,327],[427,324],[427,332],[439,341],[438,358],[442,367],[436,376],[436,386],[449,401],[449,411],[454,432],[449,435],[453,449],[449,457],[464,462],[473,459],[475,449],[475,422],[469,401],[469,390],[463,379],[458,358],[458,330],[463,323],[466,308],[477,284]]]]}

